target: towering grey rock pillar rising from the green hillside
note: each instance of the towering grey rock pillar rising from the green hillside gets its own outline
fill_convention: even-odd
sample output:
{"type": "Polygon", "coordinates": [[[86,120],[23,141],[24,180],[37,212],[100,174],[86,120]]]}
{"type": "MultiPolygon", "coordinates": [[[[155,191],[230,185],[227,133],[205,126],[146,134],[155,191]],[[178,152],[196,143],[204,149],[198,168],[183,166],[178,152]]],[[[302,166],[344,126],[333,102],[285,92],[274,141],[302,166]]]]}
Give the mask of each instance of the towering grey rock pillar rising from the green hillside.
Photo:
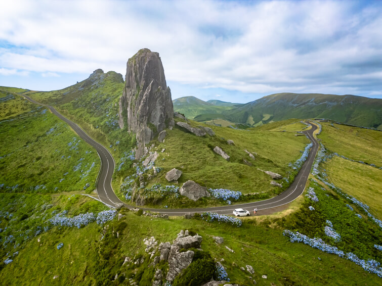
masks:
{"type": "Polygon", "coordinates": [[[119,100],[119,127],[128,125],[138,141],[136,158],[174,116],[171,90],[166,85],[158,53],[139,50],[128,60],[125,85],[119,100]]]}

